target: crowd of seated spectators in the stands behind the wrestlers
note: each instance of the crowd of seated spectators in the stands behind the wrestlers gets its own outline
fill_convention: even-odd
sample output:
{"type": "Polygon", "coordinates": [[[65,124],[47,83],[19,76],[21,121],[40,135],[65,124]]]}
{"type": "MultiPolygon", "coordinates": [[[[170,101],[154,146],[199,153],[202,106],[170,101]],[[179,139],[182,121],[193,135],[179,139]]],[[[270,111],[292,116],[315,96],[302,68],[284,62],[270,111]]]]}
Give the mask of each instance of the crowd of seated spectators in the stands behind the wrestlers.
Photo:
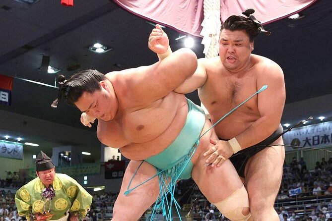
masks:
{"type": "MultiPolygon", "coordinates": [[[[0,221],[24,221],[17,213],[14,195],[16,189],[24,185],[26,180],[20,180],[18,172],[7,172],[7,177],[0,179],[0,221]]],[[[91,210],[84,221],[104,221],[112,218],[114,202],[118,194],[95,192],[91,210]]],[[[191,217],[196,221],[228,221],[218,209],[210,204],[200,193],[192,179],[181,180],[177,184],[175,197],[185,211],[191,210],[191,217]]],[[[312,204],[312,203],[311,203],[312,204]]],[[[296,158],[287,164],[284,163],[282,182],[276,199],[275,210],[280,221],[332,221],[332,158],[324,158],[316,163],[309,171],[306,162],[296,158]],[[291,190],[300,189],[294,196],[291,190]],[[291,207],[282,205],[283,202],[323,198],[320,203],[313,204],[305,213],[297,213],[291,207]]],[[[150,208],[151,209],[151,208],[150,208]]],[[[186,213],[188,213],[186,212],[186,213]]],[[[142,220],[145,220],[148,210],[142,220]]]]}

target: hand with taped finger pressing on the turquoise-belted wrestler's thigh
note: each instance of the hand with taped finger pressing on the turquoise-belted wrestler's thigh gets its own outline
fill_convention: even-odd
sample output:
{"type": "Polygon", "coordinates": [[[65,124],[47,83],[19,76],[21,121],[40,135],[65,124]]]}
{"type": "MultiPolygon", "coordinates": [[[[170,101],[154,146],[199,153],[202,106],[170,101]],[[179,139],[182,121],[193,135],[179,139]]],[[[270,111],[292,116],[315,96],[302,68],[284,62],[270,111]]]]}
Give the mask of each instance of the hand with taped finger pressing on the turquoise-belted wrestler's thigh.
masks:
{"type": "Polygon", "coordinates": [[[220,166],[233,155],[233,150],[227,141],[210,139],[210,142],[214,146],[203,154],[207,158],[206,166],[220,166]]]}

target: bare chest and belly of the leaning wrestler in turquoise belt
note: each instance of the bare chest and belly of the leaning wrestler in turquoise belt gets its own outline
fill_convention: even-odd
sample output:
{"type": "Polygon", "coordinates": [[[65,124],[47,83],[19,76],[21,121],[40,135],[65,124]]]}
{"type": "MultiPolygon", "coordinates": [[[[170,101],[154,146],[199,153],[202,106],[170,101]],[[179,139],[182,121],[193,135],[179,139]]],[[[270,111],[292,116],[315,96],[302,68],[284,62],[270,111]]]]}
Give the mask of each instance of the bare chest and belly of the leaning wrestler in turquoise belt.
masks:
{"type": "Polygon", "coordinates": [[[177,128],[181,129],[177,124],[181,124],[178,118],[183,118],[178,111],[183,101],[169,95],[148,107],[126,110],[115,120],[100,121],[98,139],[107,146],[121,148],[121,153],[133,160],[159,153],[179,132],[177,128]]]}

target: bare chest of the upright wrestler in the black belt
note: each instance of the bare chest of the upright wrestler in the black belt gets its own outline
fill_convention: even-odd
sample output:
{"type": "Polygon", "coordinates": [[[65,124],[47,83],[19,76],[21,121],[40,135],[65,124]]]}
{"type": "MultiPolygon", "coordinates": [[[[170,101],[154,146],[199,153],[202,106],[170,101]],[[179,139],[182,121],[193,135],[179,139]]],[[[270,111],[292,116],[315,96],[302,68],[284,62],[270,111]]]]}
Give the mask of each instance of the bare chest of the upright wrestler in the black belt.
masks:
{"type": "MultiPolygon", "coordinates": [[[[212,123],[240,105],[257,91],[254,71],[230,74],[223,69],[208,70],[208,78],[199,89],[199,98],[211,115],[212,123]]],[[[221,121],[216,129],[232,125],[235,121],[249,122],[259,115],[257,96],[221,121]]],[[[218,133],[218,132],[217,132],[218,133]]]]}

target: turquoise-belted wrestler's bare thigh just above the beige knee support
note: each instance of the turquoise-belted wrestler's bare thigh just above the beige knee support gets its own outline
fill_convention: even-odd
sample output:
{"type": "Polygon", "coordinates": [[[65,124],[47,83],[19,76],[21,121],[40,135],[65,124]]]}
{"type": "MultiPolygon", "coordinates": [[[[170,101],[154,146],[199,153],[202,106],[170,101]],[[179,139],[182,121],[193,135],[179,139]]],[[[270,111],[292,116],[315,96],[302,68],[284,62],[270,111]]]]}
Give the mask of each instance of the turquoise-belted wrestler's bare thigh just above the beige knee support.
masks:
{"type": "MultiPolygon", "coordinates": [[[[209,148],[212,146],[213,144],[209,143],[209,148]]],[[[243,186],[229,160],[218,167],[204,166],[205,160],[202,152],[194,164],[192,177],[209,202],[220,202],[243,186]]]]}

